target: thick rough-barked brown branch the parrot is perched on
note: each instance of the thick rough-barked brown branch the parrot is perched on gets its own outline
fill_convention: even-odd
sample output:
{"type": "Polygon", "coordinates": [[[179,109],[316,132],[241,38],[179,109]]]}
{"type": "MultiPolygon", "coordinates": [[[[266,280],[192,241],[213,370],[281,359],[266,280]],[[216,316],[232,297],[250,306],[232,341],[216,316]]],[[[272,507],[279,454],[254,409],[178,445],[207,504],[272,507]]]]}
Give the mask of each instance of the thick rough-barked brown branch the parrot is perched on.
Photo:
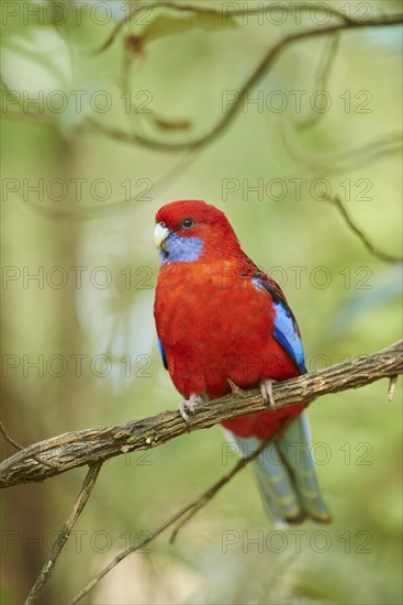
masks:
{"type": "MultiPolygon", "coordinates": [[[[359,388],[402,373],[403,341],[399,341],[378,353],[277,383],[273,396],[277,408],[301,403],[307,405],[323,395],[359,388]]],[[[187,432],[265,409],[259,392],[239,389],[198,406],[188,424],[177,410],[170,410],[123,426],[59,435],[29,446],[4,460],[0,465],[0,487],[44,481],[78,466],[94,465],[127,452],[155,448],[187,432]]]]}

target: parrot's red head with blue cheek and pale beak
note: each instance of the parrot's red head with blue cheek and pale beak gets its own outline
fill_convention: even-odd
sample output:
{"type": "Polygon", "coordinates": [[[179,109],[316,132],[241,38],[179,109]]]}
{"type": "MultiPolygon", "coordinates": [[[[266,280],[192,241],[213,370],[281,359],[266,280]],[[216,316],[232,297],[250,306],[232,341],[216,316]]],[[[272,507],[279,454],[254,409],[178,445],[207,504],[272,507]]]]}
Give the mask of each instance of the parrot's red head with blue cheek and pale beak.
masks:
{"type": "Polygon", "coordinates": [[[239,242],[224,212],[200,200],[179,200],[156,215],[154,241],[163,263],[225,258],[239,242]]]}

